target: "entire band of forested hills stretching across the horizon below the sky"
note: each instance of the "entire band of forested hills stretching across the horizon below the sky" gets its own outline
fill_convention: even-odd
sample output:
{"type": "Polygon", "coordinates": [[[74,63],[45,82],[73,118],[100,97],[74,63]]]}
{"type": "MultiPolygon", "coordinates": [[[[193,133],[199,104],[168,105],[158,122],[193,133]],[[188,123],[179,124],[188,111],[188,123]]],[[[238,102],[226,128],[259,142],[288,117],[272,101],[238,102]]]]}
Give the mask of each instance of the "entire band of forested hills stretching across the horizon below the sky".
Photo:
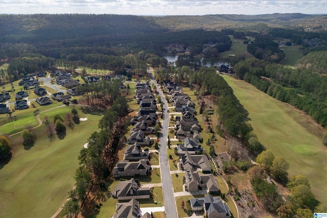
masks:
{"type": "Polygon", "coordinates": [[[31,42],[95,35],[162,33],[177,30],[239,29],[262,31],[268,27],[293,30],[326,31],[326,15],[203,15],[133,16],[114,14],[33,14],[0,15],[2,42],[31,42]]]}

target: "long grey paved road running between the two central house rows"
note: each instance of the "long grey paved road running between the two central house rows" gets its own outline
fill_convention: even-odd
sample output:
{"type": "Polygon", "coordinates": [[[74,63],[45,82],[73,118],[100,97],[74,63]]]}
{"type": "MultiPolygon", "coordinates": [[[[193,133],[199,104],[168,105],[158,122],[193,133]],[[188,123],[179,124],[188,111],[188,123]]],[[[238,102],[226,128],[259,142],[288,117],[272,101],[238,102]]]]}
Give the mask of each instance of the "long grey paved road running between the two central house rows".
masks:
{"type": "MultiPolygon", "coordinates": [[[[151,69],[149,69],[149,74],[151,77],[151,82],[157,84],[153,78],[151,69]]],[[[168,162],[168,153],[167,153],[167,138],[168,138],[168,127],[169,127],[169,113],[167,112],[168,105],[165,99],[164,94],[160,90],[160,87],[157,86],[157,91],[161,96],[161,101],[164,105],[164,121],[162,122],[161,138],[160,138],[160,171],[161,171],[161,182],[162,182],[162,192],[164,193],[164,202],[165,202],[165,214],[166,217],[175,218],[178,217],[176,201],[174,197],[174,189],[172,184],[172,179],[170,176],[170,168],[168,162]]]]}

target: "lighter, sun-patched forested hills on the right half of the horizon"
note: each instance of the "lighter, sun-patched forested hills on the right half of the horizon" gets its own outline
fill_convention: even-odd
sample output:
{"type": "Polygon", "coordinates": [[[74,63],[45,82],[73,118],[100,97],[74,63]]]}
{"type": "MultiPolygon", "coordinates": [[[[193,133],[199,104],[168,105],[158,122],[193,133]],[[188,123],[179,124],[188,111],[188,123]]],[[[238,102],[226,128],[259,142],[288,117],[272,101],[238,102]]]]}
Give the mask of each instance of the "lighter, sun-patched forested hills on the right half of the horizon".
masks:
{"type": "Polygon", "coordinates": [[[204,30],[239,29],[249,31],[264,31],[264,28],[279,27],[297,31],[327,31],[327,15],[292,14],[263,14],[237,15],[216,14],[204,16],[165,16],[148,17],[161,27],[185,30],[201,28],[204,30]]]}

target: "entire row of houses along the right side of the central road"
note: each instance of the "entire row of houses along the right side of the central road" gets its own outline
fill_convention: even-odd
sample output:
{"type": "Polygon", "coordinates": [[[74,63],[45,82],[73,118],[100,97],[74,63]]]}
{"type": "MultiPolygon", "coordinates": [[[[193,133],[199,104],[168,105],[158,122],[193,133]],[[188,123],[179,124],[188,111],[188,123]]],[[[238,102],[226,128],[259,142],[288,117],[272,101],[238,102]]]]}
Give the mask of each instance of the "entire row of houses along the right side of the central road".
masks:
{"type": "MultiPolygon", "coordinates": [[[[184,140],[177,145],[180,165],[185,171],[185,183],[189,192],[206,189],[209,193],[219,193],[220,188],[212,174],[212,167],[206,155],[201,154],[203,148],[199,122],[195,116],[195,104],[188,94],[172,82],[165,82],[166,91],[172,96],[172,103],[181,116],[176,116],[176,137],[184,140]],[[201,173],[200,173],[201,172],[201,173]]],[[[210,194],[204,198],[190,199],[193,211],[204,211],[206,217],[231,217],[229,207],[220,197],[210,194]]]]}

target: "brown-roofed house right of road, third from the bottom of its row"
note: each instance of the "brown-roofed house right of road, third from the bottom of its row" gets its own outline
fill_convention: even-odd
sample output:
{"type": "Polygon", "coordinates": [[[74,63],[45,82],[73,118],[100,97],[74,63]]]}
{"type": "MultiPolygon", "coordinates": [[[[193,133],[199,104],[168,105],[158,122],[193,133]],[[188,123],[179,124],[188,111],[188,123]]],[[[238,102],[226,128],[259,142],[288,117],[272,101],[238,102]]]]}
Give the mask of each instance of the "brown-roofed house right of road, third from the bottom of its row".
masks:
{"type": "Polygon", "coordinates": [[[196,171],[198,168],[201,168],[202,173],[209,174],[212,172],[209,160],[204,154],[192,155],[189,152],[183,152],[180,155],[180,163],[185,170],[193,169],[194,171],[196,171]]]}

